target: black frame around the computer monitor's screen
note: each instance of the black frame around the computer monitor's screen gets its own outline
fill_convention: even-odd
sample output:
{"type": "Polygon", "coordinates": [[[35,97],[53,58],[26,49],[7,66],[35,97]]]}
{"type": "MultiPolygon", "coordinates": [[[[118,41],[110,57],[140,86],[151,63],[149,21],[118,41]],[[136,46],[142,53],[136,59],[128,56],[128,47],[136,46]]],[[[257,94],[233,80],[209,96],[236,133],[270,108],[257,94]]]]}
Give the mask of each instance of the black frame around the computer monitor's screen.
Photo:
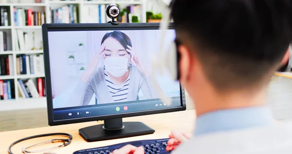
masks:
{"type": "MultiPolygon", "coordinates": [[[[53,98],[52,98],[52,84],[51,84],[51,68],[50,68],[50,55],[49,55],[49,41],[48,32],[49,31],[84,31],[88,29],[98,29],[98,30],[158,30],[160,28],[160,23],[119,23],[118,25],[112,25],[110,23],[58,23],[58,24],[43,24],[42,25],[42,37],[43,37],[43,53],[44,53],[44,65],[45,65],[45,82],[46,82],[46,99],[47,99],[47,114],[48,114],[48,124],[50,126],[81,123],[89,121],[106,120],[113,118],[125,118],[132,116],[145,116],[153,114],[162,114],[169,112],[177,112],[186,110],[185,102],[185,90],[180,84],[181,93],[181,107],[165,108],[158,110],[149,111],[138,111],[132,113],[123,113],[115,115],[106,116],[92,116],[92,117],[82,117],[75,119],[64,119],[64,120],[54,120],[54,108],[53,108],[53,98]]],[[[170,23],[168,29],[174,29],[173,23],[170,23]]]]}

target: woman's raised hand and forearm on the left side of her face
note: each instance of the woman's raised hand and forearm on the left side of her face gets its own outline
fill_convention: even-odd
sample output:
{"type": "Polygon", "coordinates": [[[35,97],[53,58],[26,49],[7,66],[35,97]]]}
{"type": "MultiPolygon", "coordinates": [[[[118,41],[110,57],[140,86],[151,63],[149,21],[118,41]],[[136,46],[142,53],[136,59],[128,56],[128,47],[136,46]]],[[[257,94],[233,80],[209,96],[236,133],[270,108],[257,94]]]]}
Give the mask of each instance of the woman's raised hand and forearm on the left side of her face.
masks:
{"type": "Polygon", "coordinates": [[[98,52],[91,58],[87,68],[81,76],[81,80],[84,82],[88,82],[89,78],[93,75],[100,58],[105,57],[104,50],[106,49],[105,45],[102,44],[98,50],[98,52]]]}

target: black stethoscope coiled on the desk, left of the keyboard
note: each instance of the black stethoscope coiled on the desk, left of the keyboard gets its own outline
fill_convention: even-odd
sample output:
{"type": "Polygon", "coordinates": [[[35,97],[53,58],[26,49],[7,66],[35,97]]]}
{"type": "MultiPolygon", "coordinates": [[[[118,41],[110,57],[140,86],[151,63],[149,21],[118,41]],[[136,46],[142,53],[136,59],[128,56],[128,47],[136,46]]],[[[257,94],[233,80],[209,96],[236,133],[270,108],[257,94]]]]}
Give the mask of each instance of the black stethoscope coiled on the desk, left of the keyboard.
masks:
{"type": "MultiPolygon", "coordinates": [[[[67,134],[67,133],[50,133],[50,134],[42,134],[42,135],[35,135],[35,136],[29,136],[29,137],[25,137],[25,138],[22,138],[22,139],[19,139],[17,141],[15,141],[14,143],[12,143],[9,148],[8,148],[8,153],[9,154],[13,154],[11,152],[11,148],[18,144],[19,142],[22,142],[22,141],[25,141],[25,140],[28,140],[28,139],[33,139],[33,138],[37,138],[37,137],[45,137],[45,136],[53,136],[53,135],[63,135],[63,136],[68,136],[69,138],[67,139],[52,139],[52,140],[49,140],[49,141],[45,141],[45,142],[41,142],[41,143],[37,143],[35,145],[32,145],[32,146],[29,146],[27,148],[22,148],[22,153],[23,154],[30,154],[30,153],[39,153],[39,152],[45,152],[45,151],[50,151],[50,150],[54,150],[54,149],[57,149],[57,148],[60,148],[60,147],[65,147],[67,145],[69,145],[72,141],[72,135],[70,134],[67,134]],[[47,149],[42,149],[42,150],[36,150],[36,151],[29,151],[28,149],[32,148],[32,147],[35,147],[35,146],[38,146],[38,145],[42,145],[42,144],[47,144],[47,143],[63,143],[62,145],[59,145],[59,146],[56,146],[56,147],[52,147],[52,148],[47,148],[47,149]]],[[[44,154],[55,154],[55,153],[44,153],[44,154]]]]}

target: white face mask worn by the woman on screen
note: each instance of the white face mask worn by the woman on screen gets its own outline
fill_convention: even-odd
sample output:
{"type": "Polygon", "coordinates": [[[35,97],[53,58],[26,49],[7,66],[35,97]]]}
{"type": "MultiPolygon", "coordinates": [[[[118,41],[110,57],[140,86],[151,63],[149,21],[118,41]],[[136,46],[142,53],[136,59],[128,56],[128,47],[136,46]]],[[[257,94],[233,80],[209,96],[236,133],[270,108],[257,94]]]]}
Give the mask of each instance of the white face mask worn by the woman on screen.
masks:
{"type": "Polygon", "coordinates": [[[128,71],[128,58],[110,57],[104,59],[106,71],[113,77],[122,77],[128,71]]]}

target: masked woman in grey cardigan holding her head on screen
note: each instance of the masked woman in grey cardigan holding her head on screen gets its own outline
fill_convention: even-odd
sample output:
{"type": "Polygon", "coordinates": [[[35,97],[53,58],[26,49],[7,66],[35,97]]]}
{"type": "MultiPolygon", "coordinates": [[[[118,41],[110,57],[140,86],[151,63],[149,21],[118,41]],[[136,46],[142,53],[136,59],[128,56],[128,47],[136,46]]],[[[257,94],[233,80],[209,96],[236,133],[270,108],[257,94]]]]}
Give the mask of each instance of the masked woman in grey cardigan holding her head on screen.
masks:
{"type": "Polygon", "coordinates": [[[70,102],[88,105],[93,93],[97,104],[137,100],[141,90],[147,99],[153,98],[149,84],[149,73],[139,62],[132,48],[131,39],[120,31],[107,33],[97,54],[80,77],[70,102]],[[97,68],[99,60],[104,66],[97,68]],[[131,64],[133,59],[136,66],[131,64]]]}

